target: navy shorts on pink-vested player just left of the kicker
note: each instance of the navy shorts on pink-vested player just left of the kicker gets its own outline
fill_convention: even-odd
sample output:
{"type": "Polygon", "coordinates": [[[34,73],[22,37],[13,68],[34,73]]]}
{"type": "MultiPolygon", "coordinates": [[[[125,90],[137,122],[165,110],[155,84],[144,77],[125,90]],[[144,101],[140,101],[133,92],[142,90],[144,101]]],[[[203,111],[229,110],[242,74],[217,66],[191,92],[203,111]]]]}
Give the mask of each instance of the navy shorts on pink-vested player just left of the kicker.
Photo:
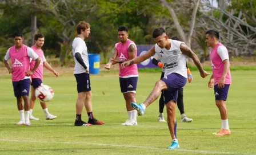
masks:
{"type": "Polygon", "coordinates": [[[120,88],[122,93],[134,92],[136,93],[138,77],[120,78],[120,88]]]}

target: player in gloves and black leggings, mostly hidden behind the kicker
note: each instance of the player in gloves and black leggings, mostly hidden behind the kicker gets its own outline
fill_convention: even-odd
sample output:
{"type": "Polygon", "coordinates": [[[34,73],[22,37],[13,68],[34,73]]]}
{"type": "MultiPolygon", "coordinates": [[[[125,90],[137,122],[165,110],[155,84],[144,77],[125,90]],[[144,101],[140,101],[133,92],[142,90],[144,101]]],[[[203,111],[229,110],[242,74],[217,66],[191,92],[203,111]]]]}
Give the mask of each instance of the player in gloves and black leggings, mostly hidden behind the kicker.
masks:
{"type": "MultiPolygon", "coordinates": [[[[177,36],[174,36],[173,38],[171,38],[172,40],[178,40],[179,38],[177,36]]],[[[152,60],[152,63],[155,64],[158,67],[162,68],[162,74],[161,74],[161,78],[163,78],[163,76],[165,75],[165,68],[163,67],[163,63],[158,62],[158,55],[155,54],[154,58],[152,60]]],[[[186,68],[187,68],[187,75],[189,76],[189,83],[191,83],[192,81],[192,74],[189,70],[189,68],[187,67],[187,62],[186,62],[186,68]]],[[[193,119],[188,118],[185,115],[184,112],[184,103],[183,103],[183,88],[179,88],[178,90],[178,99],[177,99],[177,106],[179,108],[179,112],[181,113],[181,122],[191,122],[193,121],[193,119]]],[[[161,93],[160,99],[159,99],[159,115],[158,115],[158,121],[159,122],[165,122],[165,118],[163,117],[163,108],[165,107],[165,101],[163,100],[163,91],[161,93]]]]}

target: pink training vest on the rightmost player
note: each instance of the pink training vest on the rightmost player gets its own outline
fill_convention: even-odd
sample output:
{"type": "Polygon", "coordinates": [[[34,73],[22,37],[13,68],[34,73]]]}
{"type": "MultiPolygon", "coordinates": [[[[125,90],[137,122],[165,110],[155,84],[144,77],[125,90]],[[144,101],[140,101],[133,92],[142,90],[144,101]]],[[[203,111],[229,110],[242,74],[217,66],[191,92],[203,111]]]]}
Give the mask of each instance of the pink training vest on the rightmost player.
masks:
{"type": "MultiPolygon", "coordinates": [[[[219,81],[219,79],[221,79],[221,76],[222,76],[223,70],[224,70],[224,63],[222,60],[223,58],[221,58],[221,56],[219,56],[218,51],[217,51],[218,48],[221,46],[225,47],[223,44],[218,43],[217,46],[215,46],[211,50],[211,55],[210,55],[211,68],[213,68],[214,85],[218,84],[218,81],[219,81]]],[[[225,51],[221,51],[221,52],[227,52],[226,47],[225,47],[225,51]]],[[[229,59],[228,52],[227,52],[227,59],[229,59]]],[[[225,84],[231,84],[230,70],[229,70],[229,72],[227,72],[227,75],[225,77],[225,84]]]]}

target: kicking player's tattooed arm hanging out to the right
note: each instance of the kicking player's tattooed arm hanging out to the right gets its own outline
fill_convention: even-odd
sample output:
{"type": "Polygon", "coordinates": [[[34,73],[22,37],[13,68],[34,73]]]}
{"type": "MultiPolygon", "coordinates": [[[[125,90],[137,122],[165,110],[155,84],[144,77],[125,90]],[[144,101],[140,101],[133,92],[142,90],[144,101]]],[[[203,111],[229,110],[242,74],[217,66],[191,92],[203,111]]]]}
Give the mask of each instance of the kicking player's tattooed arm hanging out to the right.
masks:
{"type": "Polygon", "coordinates": [[[200,63],[197,55],[195,55],[194,52],[189,47],[187,47],[187,45],[185,43],[181,43],[179,48],[181,49],[181,52],[184,55],[188,56],[189,58],[191,58],[193,60],[195,66],[197,66],[202,78],[205,78],[207,75],[209,75],[206,71],[203,70],[202,64],[200,63]]]}

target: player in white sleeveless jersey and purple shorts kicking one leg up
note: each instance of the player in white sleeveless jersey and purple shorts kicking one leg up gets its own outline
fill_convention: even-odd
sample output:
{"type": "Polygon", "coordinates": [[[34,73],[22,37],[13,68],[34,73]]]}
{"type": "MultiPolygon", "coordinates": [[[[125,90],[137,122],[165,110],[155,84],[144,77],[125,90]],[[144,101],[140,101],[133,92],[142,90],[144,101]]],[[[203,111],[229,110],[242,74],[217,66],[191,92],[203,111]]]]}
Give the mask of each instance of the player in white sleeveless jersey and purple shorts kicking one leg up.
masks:
{"type": "Polygon", "coordinates": [[[187,81],[185,55],[193,59],[202,78],[205,78],[208,74],[203,70],[197,55],[195,55],[185,43],[179,42],[178,40],[168,39],[168,36],[162,27],[154,30],[153,38],[156,44],[146,52],[146,54],[122,63],[122,68],[134,63],[141,63],[155,53],[158,54],[158,57],[165,66],[165,76],[155,83],[153,91],[151,91],[150,95],[142,104],[131,103],[131,106],[136,109],[138,115],[141,116],[145,113],[146,107],[157,100],[161,91],[164,90],[163,96],[166,104],[167,123],[173,140],[168,149],[175,149],[179,148],[176,136],[177,121],[175,117],[175,103],[177,103],[178,89],[182,88],[187,81]]]}

